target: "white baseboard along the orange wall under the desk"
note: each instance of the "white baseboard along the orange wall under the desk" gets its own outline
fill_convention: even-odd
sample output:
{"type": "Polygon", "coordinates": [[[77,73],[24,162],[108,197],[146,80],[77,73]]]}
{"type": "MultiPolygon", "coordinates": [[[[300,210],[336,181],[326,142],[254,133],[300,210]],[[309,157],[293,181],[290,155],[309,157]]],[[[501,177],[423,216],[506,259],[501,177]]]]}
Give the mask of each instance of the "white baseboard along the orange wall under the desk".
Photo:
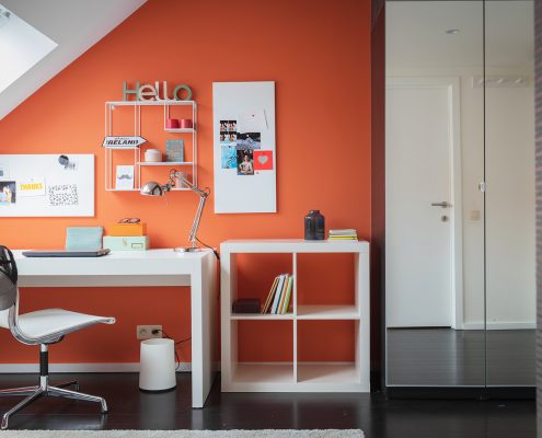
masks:
{"type": "MultiPolygon", "coordinates": [[[[50,372],[139,372],[139,362],[49,364],[50,372]]],[[[191,362],[181,362],[177,372],[191,372],[191,362]]],[[[38,364],[0,364],[0,373],[39,372],[38,364]]]]}

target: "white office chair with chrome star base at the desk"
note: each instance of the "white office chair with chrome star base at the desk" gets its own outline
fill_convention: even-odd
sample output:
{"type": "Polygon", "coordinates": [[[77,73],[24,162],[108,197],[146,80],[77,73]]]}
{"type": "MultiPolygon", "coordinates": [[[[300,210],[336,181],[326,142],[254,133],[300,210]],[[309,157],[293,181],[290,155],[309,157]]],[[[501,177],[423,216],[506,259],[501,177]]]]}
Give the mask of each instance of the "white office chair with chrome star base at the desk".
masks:
{"type": "Polygon", "coordinates": [[[0,390],[0,396],[26,396],[18,405],[2,416],[1,428],[8,428],[9,418],[32,402],[45,395],[85,400],[101,404],[102,414],[107,412],[105,400],[77,392],[79,384],[70,381],[53,387],[49,384],[48,348],[72,332],[105,323],[114,324],[114,318],[94,316],[70,312],[64,309],[45,309],[36,312],[19,314],[18,270],[12,252],[0,245],[0,327],[9,328],[19,342],[26,345],[39,345],[39,384],[34,387],[0,390]],[[66,387],[73,387],[74,391],[66,387]]]}

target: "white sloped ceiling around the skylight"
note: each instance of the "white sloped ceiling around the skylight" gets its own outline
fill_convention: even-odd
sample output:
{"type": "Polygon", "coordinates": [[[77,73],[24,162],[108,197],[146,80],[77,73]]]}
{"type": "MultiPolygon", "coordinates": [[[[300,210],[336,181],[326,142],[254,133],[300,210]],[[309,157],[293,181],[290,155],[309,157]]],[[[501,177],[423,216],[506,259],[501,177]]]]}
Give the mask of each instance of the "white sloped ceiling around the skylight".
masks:
{"type": "MultiPolygon", "coordinates": [[[[0,0],[58,47],[0,93],[0,119],[147,0],[0,0]]],[[[0,67],[1,68],[1,67],[0,67]]]]}

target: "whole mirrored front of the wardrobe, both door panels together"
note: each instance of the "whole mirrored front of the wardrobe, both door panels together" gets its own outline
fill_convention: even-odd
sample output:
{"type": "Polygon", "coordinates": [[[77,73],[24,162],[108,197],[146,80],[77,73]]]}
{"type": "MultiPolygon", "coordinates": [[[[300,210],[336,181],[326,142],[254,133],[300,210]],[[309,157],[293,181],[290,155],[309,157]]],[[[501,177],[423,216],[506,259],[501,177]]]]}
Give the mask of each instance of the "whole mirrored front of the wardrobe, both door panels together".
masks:
{"type": "Polygon", "coordinates": [[[387,2],[387,385],[534,384],[532,7],[387,2]]]}

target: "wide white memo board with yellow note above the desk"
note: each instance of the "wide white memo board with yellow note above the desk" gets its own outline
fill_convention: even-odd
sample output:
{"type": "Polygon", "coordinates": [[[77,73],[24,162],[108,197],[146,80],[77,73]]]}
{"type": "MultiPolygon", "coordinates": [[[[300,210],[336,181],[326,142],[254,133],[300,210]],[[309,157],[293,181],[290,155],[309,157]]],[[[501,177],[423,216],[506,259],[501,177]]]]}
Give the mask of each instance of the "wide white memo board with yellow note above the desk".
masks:
{"type": "Polygon", "coordinates": [[[94,155],[0,154],[0,218],[94,216],[94,155]]]}

